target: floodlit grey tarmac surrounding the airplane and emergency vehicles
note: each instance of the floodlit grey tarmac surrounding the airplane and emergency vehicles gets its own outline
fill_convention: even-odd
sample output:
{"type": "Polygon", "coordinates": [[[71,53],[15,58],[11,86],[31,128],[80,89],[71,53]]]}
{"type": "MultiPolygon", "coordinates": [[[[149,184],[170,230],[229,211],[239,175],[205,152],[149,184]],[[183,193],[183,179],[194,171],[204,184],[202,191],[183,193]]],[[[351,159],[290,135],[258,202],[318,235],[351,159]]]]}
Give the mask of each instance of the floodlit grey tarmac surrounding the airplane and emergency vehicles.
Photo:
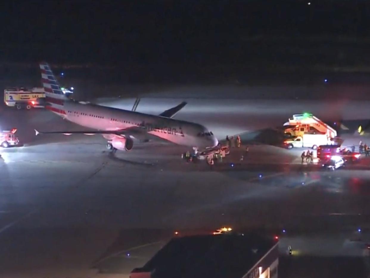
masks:
{"type": "MultiPolygon", "coordinates": [[[[157,100],[160,106],[143,99],[138,110],[149,112],[146,107],[153,103],[151,112],[159,114],[177,103],[157,100]]],[[[121,106],[115,101],[110,100],[121,106]]],[[[205,162],[185,162],[181,153],[186,148],[167,143],[135,142],[131,152],[112,154],[97,135],[36,137],[34,129],[79,127],[43,109],[1,107],[0,126],[16,127],[23,146],[0,150],[0,277],[128,277],[175,231],[180,236],[212,233],[224,225],[279,234],[286,277],[302,274],[308,257],[314,257],[312,267],[323,268],[318,258],[340,264],[348,257],[356,266],[351,275],[368,273],[370,160],[361,158],[334,172],[302,165],[302,149],[244,136],[269,126],[268,104],[253,112],[240,106],[233,113],[228,112],[232,103],[214,101],[223,107],[222,120],[215,103],[199,99],[176,115],[198,120],[219,138],[243,135],[248,155],[240,161],[243,148],[232,149],[213,169],[205,162]],[[203,110],[208,105],[213,108],[203,110]],[[287,244],[296,254],[286,263],[287,244]]],[[[270,126],[282,125],[291,116],[289,109],[272,111],[277,116],[270,126]]],[[[326,277],[345,274],[338,267],[326,277]]]]}

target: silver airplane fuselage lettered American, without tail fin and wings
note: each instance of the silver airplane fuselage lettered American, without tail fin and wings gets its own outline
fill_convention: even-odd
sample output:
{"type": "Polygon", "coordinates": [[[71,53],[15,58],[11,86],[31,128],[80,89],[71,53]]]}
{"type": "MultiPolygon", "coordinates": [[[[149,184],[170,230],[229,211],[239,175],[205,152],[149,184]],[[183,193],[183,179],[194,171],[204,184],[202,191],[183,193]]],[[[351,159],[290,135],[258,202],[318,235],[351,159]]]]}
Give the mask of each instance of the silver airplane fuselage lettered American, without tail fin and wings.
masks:
{"type": "Polygon", "coordinates": [[[64,112],[62,116],[65,119],[91,129],[125,130],[137,127],[145,129],[149,135],[179,145],[206,148],[218,144],[215,136],[197,123],[73,101],[64,102],[64,112]]]}

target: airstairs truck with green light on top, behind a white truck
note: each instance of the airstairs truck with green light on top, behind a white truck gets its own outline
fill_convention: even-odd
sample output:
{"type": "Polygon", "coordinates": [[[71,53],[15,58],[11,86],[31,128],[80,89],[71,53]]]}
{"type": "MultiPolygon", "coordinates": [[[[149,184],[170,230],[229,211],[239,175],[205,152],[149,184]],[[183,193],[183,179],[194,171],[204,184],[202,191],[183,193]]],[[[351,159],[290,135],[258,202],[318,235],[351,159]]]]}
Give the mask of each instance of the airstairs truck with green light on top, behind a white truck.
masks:
{"type": "MultiPolygon", "coordinates": [[[[296,114],[284,124],[285,135],[325,134],[328,138],[337,137],[337,131],[310,113],[296,114]]],[[[320,144],[319,144],[320,145],[320,144]]]]}

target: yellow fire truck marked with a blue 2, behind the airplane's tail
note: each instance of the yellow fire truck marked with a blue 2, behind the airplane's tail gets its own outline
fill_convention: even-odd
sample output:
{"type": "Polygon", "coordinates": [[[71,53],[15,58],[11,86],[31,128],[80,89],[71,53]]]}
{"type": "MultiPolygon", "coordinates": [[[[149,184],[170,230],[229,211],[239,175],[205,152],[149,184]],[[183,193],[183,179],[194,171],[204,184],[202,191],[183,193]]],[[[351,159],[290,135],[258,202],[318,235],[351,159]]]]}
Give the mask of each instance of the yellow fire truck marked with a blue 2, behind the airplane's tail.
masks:
{"type": "Polygon", "coordinates": [[[4,102],[7,106],[17,109],[43,107],[40,100],[45,98],[44,88],[13,88],[4,90],[4,102]]]}

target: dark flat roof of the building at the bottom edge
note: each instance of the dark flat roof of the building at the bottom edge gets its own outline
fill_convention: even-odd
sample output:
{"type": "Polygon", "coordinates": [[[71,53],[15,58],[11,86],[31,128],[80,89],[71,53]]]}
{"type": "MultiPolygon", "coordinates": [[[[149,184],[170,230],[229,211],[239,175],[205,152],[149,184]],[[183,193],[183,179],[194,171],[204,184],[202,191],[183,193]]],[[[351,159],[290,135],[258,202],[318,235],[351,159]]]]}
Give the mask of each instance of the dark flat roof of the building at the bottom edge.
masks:
{"type": "Polygon", "coordinates": [[[152,278],[241,278],[275,245],[258,235],[174,238],[132,272],[151,272],[152,278]]]}

